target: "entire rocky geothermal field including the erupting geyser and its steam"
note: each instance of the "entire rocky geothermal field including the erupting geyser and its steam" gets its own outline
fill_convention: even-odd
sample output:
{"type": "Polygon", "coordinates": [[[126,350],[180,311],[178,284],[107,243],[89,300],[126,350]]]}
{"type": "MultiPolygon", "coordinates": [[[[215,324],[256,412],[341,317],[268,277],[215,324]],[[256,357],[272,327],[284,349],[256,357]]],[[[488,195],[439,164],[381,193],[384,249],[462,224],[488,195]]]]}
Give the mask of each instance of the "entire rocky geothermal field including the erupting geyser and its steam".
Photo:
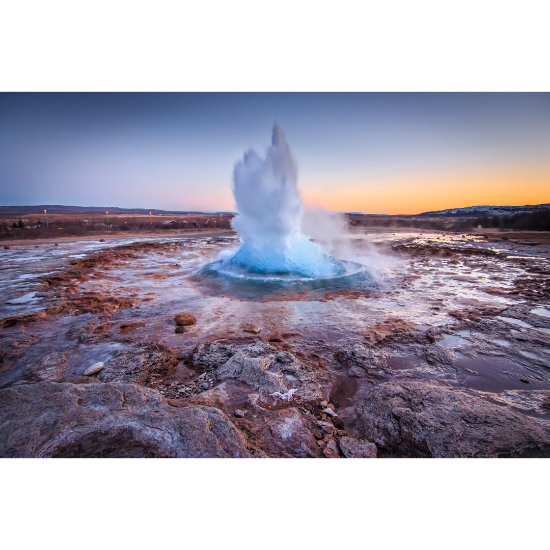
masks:
{"type": "Polygon", "coordinates": [[[234,231],[0,250],[0,456],[550,456],[550,248],[304,212],[282,130],[234,231]]]}

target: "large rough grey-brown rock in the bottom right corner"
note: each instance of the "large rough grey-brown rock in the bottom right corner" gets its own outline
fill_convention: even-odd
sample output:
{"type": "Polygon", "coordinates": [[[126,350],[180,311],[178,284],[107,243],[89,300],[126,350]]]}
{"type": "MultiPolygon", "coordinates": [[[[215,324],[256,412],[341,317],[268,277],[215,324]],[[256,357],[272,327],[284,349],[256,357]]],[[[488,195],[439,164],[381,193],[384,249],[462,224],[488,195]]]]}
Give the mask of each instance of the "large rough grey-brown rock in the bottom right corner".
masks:
{"type": "Polygon", "coordinates": [[[359,406],[360,426],[385,455],[497,458],[545,455],[550,434],[536,420],[437,382],[385,382],[359,406]]]}

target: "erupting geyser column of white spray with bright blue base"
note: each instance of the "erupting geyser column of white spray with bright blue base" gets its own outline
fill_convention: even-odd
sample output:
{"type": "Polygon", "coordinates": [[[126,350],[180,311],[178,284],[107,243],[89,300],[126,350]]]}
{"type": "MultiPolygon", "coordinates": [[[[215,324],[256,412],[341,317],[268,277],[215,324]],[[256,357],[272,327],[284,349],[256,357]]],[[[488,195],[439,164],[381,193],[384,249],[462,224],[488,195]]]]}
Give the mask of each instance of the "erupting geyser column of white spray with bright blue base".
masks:
{"type": "Polygon", "coordinates": [[[253,150],[235,164],[233,227],[241,246],[224,263],[239,272],[330,278],[345,273],[342,262],[301,233],[304,208],[296,186],[296,164],[283,130],[273,125],[265,158],[253,150]]]}

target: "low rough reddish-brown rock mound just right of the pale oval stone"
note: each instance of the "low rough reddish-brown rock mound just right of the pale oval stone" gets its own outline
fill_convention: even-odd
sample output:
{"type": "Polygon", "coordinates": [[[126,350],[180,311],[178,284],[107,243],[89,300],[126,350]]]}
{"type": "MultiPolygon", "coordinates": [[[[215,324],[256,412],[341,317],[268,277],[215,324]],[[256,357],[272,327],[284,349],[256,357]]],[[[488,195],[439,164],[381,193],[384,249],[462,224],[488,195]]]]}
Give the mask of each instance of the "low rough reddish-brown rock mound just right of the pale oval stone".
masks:
{"type": "Polygon", "coordinates": [[[141,342],[117,351],[105,362],[97,378],[102,382],[145,384],[154,377],[171,376],[177,365],[171,349],[155,342],[141,342]]]}

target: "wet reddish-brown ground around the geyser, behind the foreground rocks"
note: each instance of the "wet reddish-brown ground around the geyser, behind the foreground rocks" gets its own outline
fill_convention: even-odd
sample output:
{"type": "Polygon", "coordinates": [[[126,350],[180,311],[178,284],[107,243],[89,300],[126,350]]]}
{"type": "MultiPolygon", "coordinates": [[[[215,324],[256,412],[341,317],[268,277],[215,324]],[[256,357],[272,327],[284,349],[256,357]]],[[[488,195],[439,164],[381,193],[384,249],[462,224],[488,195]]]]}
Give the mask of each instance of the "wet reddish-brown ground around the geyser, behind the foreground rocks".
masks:
{"type": "MultiPolygon", "coordinates": [[[[362,393],[389,379],[463,388],[550,425],[541,407],[550,390],[550,246],[364,230],[345,240],[344,259],[369,267],[367,276],[261,292],[204,272],[238,245],[235,236],[10,245],[0,250],[0,386],[21,383],[21,373],[52,354],[63,355],[65,376],[79,377],[134,342],[152,341],[179,360],[158,387],[184,400],[218,383],[196,383],[188,357],[197,345],[263,340],[320,358],[328,401],[352,435],[362,393]],[[181,333],[178,312],[196,317],[181,333]],[[387,354],[378,375],[350,375],[336,359],[353,342],[387,354]],[[185,392],[170,389],[193,381],[185,392]]],[[[228,398],[224,412],[239,403],[228,398]]]]}

